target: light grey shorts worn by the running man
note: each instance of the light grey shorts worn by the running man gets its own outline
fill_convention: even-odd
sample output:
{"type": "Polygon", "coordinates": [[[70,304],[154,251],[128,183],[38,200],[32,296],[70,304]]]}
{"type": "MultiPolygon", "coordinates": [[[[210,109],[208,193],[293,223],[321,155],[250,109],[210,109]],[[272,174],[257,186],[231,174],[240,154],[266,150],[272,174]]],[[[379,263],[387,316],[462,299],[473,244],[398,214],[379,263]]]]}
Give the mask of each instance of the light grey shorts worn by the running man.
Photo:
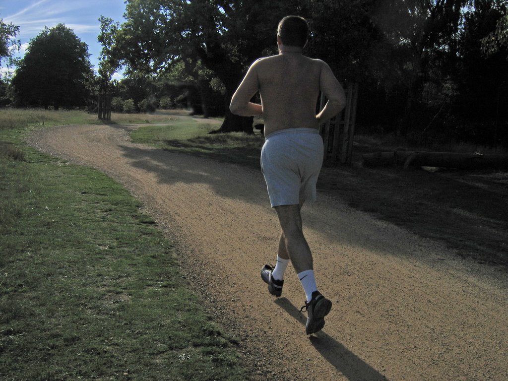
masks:
{"type": "Polygon", "coordinates": [[[266,137],[261,169],[272,207],[316,200],[323,139],[315,129],[285,129],[266,137]]]}

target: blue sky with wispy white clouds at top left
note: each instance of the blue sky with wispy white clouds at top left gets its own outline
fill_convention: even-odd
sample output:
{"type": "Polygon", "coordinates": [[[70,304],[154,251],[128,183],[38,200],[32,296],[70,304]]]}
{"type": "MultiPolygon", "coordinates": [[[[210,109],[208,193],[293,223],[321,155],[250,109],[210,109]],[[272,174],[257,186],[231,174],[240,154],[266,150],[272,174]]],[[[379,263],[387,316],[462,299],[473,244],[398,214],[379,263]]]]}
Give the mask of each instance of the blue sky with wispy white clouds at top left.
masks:
{"type": "Polygon", "coordinates": [[[97,36],[101,31],[99,17],[123,21],[124,0],[0,0],[0,18],[5,23],[19,26],[17,39],[21,40],[24,54],[31,39],[44,27],[52,28],[59,23],[74,30],[76,36],[88,45],[90,62],[97,71],[101,45],[97,36]]]}

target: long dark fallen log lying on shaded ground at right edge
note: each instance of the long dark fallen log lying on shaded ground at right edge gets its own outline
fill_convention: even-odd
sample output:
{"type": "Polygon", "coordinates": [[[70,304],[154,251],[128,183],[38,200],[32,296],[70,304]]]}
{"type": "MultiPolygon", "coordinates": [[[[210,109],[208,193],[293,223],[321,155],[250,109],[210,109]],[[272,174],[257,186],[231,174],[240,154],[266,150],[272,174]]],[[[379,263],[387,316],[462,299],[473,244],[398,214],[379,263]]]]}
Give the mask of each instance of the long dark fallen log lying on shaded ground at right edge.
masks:
{"type": "Polygon", "coordinates": [[[362,155],[366,167],[402,166],[439,167],[463,170],[499,169],[508,170],[508,156],[481,155],[476,153],[391,151],[373,152],[362,155]]]}

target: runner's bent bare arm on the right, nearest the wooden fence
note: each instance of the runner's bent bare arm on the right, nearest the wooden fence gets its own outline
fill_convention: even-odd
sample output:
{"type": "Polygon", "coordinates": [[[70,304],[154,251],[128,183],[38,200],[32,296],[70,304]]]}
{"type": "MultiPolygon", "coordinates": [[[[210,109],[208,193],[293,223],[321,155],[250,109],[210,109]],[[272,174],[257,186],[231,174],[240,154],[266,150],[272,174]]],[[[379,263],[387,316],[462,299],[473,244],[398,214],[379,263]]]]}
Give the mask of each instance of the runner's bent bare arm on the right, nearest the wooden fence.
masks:
{"type": "Polygon", "coordinates": [[[323,110],[316,115],[317,120],[321,123],[333,118],[346,106],[344,89],[325,62],[321,68],[320,90],[328,100],[323,110]]]}

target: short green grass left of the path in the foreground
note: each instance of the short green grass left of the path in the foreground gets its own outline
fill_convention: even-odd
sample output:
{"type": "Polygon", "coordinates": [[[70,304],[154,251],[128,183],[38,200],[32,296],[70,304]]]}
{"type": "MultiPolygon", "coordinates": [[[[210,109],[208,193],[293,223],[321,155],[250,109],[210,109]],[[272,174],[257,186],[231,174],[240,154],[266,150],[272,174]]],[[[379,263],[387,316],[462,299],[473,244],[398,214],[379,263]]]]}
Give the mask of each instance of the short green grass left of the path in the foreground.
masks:
{"type": "Polygon", "coordinates": [[[0,379],[247,378],[140,204],[27,131],[0,130],[0,379]]]}

